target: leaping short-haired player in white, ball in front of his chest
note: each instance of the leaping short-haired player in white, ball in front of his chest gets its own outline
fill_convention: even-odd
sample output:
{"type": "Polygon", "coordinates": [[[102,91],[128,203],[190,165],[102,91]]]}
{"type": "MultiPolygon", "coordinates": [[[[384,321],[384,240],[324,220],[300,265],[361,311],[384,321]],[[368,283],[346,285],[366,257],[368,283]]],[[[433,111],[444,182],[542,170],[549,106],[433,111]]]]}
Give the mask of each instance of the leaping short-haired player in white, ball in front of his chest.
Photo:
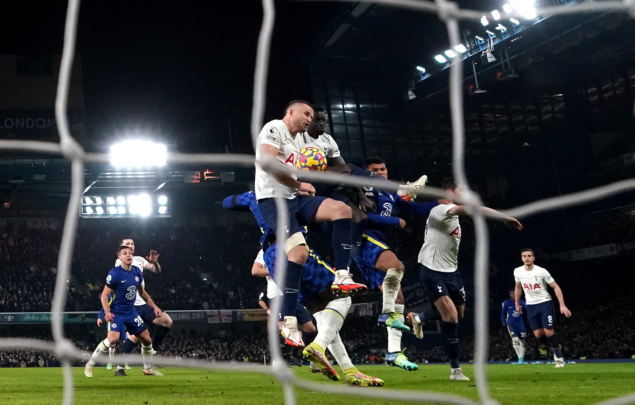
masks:
{"type": "MultiPolygon", "coordinates": [[[[284,319],[281,331],[289,345],[304,347],[298,331],[296,303],[300,289],[300,278],[309,251],[302,229],[310,223],[333,222],[331,245],[337,269],[333,289],[346,293],[366,289],[351,279],[348,271],[351,251],[351,208],[342,201],[316,197],[315,189],[309,183],[298,182],[297,176],[289,173],[270,175],[260,166],[260,159],[269,156],[279,163],[295,167],[295,157],[300,151],[298,133],[307,130],[313,116],[310,103],[296,100],[284,109],[283,119],[274,119],[265,124],[256,140],[255,194],[260,213],[272,232],[277,229],[275,197],[286,199],[289,221],[284,226],[288,239],[284,243],[287,257],[287,272],[284,281],[284,319]]],[[[272,236],[273,237],[273,236],[272,236]]],[[[263,246],[267,249],[268,246],[263,246]]]]}

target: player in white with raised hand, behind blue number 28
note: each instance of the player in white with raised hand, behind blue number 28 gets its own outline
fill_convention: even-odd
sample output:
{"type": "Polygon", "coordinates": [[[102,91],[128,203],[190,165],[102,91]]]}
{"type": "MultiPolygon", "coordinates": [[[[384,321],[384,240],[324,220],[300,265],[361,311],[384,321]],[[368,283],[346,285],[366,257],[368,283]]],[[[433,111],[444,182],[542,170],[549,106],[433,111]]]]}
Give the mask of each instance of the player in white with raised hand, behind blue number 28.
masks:
{"type": "MultiPolygon", "coordinates": [[[[124,237],[121,240],[121,246],[128,246],[130,248],[131,254],[135,254],[135,241],[133,241],[132,238],[124,237]]],[[[121,261],[117,259],[115,262],[115,267],[120,264],[121,261]]],[[[156,250],[150,250],[150,256],[147,256],[146,258],[144,258],[143,256],[133,256],[132,264],[141,269],[142,272],[144,270],[148,270],[154,273],[161,272],[161,265],[159,265],[159,255],[157,254],[156,250]]],[[[142,285],[145,288],[145,277],[142,285]]],[[[157,326],[156,332],[154,333],[154,336],[152,336],[152,342],[154,342],[154,349],[159,349],[161,342],[163,342],[163,339],[168,334],[168,331],[172,326],[172,319],[170,315],[163,312],[161,317],[156,317],[156,315],[154,314],[154,310],[152,310],[152,307],[150,307],[150,305],[148,305],[138,293],[135,297],[135,310],[137,311],[137,314],[139,314],[140,317],[144,320],[145,324],[150,325],[151,323],[154,323],[157,326]]],[[[137,343],[137,338],[131,335],[128,340],[126,340],[126,342],[121,345],[121,352],[131,353],[133,347],[135,347],[135,343],[137,343]]],[[[117,366],[117,369],[115,371],[116,375],[125,375],[125,371],[123,370],[123,367],[117,366]]]]}

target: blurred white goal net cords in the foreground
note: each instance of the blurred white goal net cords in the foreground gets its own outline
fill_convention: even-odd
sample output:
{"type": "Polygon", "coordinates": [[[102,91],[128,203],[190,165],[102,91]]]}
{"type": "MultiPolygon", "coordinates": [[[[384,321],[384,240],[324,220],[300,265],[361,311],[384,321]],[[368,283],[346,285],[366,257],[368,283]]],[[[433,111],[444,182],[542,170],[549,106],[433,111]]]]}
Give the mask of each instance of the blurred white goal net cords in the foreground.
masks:
{"type": "MultiPolygon", "coordinates": [[[[333,0],[340,1],[340,0],[333,0]]],[[[373,3],[380,3],[389,6],[407,8],[411,10],[425,11],[435,13],[445,22],[448,29],[448,37],[451,44],[461,43],[460,32],[458,28],[458,20],[480,20],[485,14],[482,11],[462,10],[458,8],[456,3],[437,0],[378,0],[373,3]]],[[[262,128],[265,107],[265,89],[266,78],[269,65],[269,51],[271,46],[271,36],[274,29],[275,9],[274,0],[262,0],[264,17],[260,36],[258,38],[257,60],[254,76],[253,88],[253,109],[251,112],[251,135],[255,142],[260,129],[262,128]]],[[[571,13],[599,13],[599,12],[626,12],[635,17],[635,0],[622,1],[588,1],[585,3],[577,3],[569,6],[558,5],[540,10],[541,15],[557,15],[571,13]]],[[[60,76],[58,80],[58,93],[55,100],[55,117],[57,119],[58,133],[60,134],[60,143],[37,142],[37,141],[21,141],[21,140],[0,140],[0,149],[6,150],[23,150],[39,152],[43,154],[57,154],[70,159],[72,171],[72,183],[70,189],[70,199],[67,208],[67,215],[64,223],[64,233],[60,246],[60,256],[58,258],[57,282],[55,284],[55,293],[53,295],[53,303],[51,306],[51,325],[53,331],[53,343],[43,342],[41,340],[32,340],[24,338],[0,338],[0,348],[3,349],[35,349],[54,353],[62,362],[64,369],[64,404],[72,404],[74,400],[74,387],[71,363],[75,360],[86,359],[86,352],[76,349],[74,345],[64,337],[64,328],[62,324],[62,315],[67,300],[67,284],[66,280],[70,276],[70,261],[74,247],[74,241],[77,234],[77,221],[79,216],[79,204],[81,202],[81,193],[84,186],[83,168],[85,162],[106,163],[109,161],[107,154],[91,154],[84,152],[79,143],[70,135],[67,120],[67,100],[70,86],[70,71],[72,67],[72,59],[75,53],[77,18],[79,15],[79,0],[70,0],[67,10],[65,33],[64,33],[64,51],[62,54],[62,63],[60,67],[60,76]]],[[[519,13],[512,13],[510,17],[522,16],[519,13]]],[[[451,110],[451,128],[453,134],[452,143],[452,163],[453,175],[458,183],[465,186],[468,185],[464,169],[464,112],[463,112],[463,68],[461,58],[451,59],[450,68],[450,110],[451,110]]],[[[168,163],[214,163],[217,165],[232,164],[241,166],[252,166],[255,158],[248,155],[237,154],[168,154],[168,163]]],[[[260,162],[262,167],[267,171],[279,170],[271,161],[260,162]]],[[[307,173],[302,172],[306,178],[321,180],[323,182],[331,182],[348,185],[368,185],[375,186],[396,192],[398,183],[379,182],[378,180],[354,178],[346,175],[334,175],[324,173],[307,173]]],[[[471,215],[474,220],[474,230],[476,234],[476,252],[474,263],[474,289],[475,296],[475,312],[474,319],[476,340],[474,347],[474,376],[476,378],[476,387],[478,388],[479,399],[481,404],[497,403],[490,397],[488,390],[488,380],[486,374],[486,359],[488,358],[488,278],[486,269],[488,269],[488,231],[486,228],[485,214],[481,211],[481,200],[478,195],[472,192],[469,187],[465,187],[462,196],[462,203],[471,208],[471,215]]],[[[552,197],[542,201],[531,202],[525,206],[510,209],[505,214],[521,218],[535,213],[549,211],[551,209],[563,208],[575,204],[583,204],[585,202],[612,196],[614,194],[624,192],[626,190],[635,189],[635,180],[624,180],[615,182],[610,185],[598,187],[596,189],[586,190],[568,194],[565,196],[552,197]]],[[[411,191],[415,191],[414,189],[411,191]]],[[[417,190],[419,194],[429,197],[443,197],[445,194],[441,189],[425,187],[423,190],[417,190]]],[[[286,222],[286,204],[283,199],[277,199],[278,221],[279,224],[286,222]]],[[[283,229],[279,225],[278,229],[283,229]]],[[[284,234],[277,235],[279,242],[284,242],[284,234]]],[[[276,260],[276,283],[284,289],[284,274],[286,272],[286,263],[282,260],[276,260]]],[[[279,312],[279,302],[274,303],[272,313],[279,312]]],[[[154,362],[166,366],[187,366],[194,368],[222,369],[227,371],[250,371],[263,374],[273,374],[277,380],[283,384],[284,397],[287,404],[295,404],[294,387],[306,388],[318,392],[330,392],[333,394],[354,394],[357,396],[371,397],[377,399],[389,399],[392,401],[409,401],[409,402],[443,402],[448,404],[474,404],[475,402],[458,395],[442,394],[438,392],[407,392],[405,390],[359,390],[345,387],[343,385],[333,386],[321,383],[312,383],[297,378],[291,373],[290,368],[284,363],[279,345],[277,345],[278,331],[275,322],[269,322],[269,342],[272,350],[272,357],[276,361],[276,366],[257,366],[257,365],[241,365],[229,363],[213,363],[195,359],[169,359],[157,357],[154,362]]],[[[126,359],[130,360],[130,357],[126,359]]],[[[119,356],[114,358],[115,361],[122,360],[119,356]]],[[[141,362],[142,358],[137,356],[133,361],[141,362]]],[[[619,405],[635,402],[635,394],[624,395],[615,399],[601,402],[601,405],[619,405]]]]}

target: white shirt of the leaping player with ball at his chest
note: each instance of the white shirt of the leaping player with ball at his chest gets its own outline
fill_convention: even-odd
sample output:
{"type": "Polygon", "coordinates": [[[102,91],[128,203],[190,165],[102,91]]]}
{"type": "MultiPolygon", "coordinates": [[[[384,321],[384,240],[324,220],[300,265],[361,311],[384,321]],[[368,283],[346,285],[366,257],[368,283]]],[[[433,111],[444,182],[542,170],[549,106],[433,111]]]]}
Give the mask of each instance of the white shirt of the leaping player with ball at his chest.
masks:
{"type": "MultiPolygon", "coordinates": [[[[284,164],[288,164],[291,167],[295,167],[295,157],[300,152],[300,138],[297,135],[291,135],[291,132],[286,128],[286,124],[281,119],[274,119],[266,123],[258,138],[256,140],[256,159],[260,159],[260,145],[272,145],[279,149],[277,159],[284,164]]],[[[297,177],[297,176],[294,176],[297,177]]],[[[269,197],[284,197],[286,199],[293,199],[298,195],[297,190],[291,189],[286,185],[281,184],[274,178],[265,172],[260,165],[256,163],[256,178],[255,178],[255,192],[256,199],[263,199],[269,197]]]]}

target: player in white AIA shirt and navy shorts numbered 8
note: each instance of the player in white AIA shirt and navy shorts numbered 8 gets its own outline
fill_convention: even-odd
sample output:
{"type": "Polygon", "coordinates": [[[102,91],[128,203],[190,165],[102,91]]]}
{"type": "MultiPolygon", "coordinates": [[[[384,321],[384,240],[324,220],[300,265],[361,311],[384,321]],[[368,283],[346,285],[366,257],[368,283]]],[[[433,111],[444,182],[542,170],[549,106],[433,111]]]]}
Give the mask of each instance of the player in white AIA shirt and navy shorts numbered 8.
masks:
{"type": "Polygon", "coordinates": [[[558,343],[558,336],[554,332],[556,324],[556,312],[554,311],[553,301],[547,284],[554,289],[554,293],[560,302],[560,313],[565,317],[571,316],[571,311],[565,305],[565,297],[558,283],[551,277],[549,272],[535,264],[535,256],[533,250],[523,249],[521,251],[521,260],[524,265],[514,269],[514,281],[516,281],[516,310],[522,313],[523,308],[520,305],[520,296],[525,291],[525,301],[527,303],[527,320],[533,331],[533,335],[544,343],[547,343],[554,352],[554,361],[556,368],[565,367],[565,359],[562,357],[562,350],[558,343]],[[546,341],[546,342],[545,342],[546,341]]]}

